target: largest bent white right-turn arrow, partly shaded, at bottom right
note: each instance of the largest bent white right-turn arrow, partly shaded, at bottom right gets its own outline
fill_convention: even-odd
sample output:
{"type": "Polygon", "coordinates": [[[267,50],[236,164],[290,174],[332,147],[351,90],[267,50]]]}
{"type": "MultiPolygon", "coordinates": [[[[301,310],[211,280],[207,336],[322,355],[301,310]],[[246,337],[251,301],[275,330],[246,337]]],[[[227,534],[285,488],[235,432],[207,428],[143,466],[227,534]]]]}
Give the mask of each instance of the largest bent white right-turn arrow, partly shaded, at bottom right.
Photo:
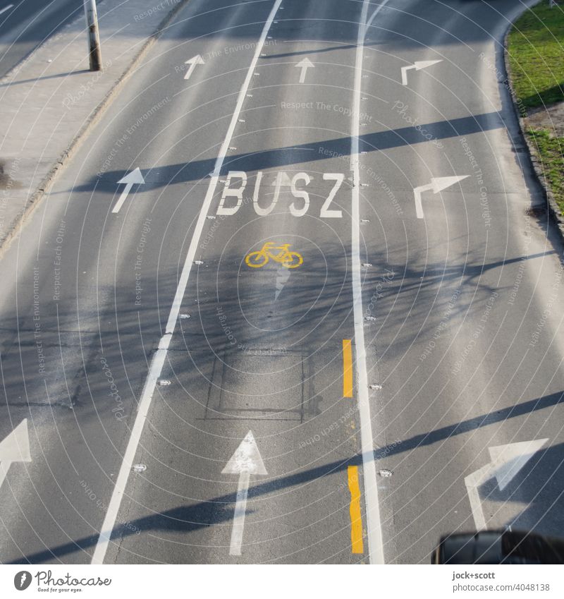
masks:
{"type": "Polygon", "coordinates": [[[486,480],[496,478],[500,491],[517,476],[517,473],[527,464],[529,459],[536,454],[548,439],[539,439],[534,441],[522,441],[519,443],[510,443],[508,445],[498,445],[489,447],[491,462],[482,466],[479,470],[472,472],[465,479],[465,485],[474,516],[474,525],[477,531],[486,529],[486,519],[482,510],[482,501],[480,500],[479,487],[486,480]]]}

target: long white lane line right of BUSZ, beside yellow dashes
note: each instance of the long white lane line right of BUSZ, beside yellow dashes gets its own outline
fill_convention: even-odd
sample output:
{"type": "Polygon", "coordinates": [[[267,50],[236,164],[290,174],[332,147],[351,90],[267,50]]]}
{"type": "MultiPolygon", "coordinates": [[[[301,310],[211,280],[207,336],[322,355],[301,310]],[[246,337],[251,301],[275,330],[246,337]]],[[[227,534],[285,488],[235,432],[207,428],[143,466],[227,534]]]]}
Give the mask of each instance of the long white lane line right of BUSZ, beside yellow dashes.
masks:
{"type": "MultiPolygon", "coordinates": [[[[366,371],[366,348],[364,347],[364,318],[362,310],[362,281],[360,279],[360,167],[359,167],[359,137],[360,137],[360,92],[362,82],[362,55],[364,38],[367,31],[367,14],[370,0],[363,0],[362,15],[358,28],[357,52],[355,61],[355,95],[353,101],[353,131],[350,141],[350,169],[353,171],[353,247],[352,247],[352,276],[353,276],[353,310],[355,316],[355,364],[357,370],[358,411],[360,416],[360,446],[362,450],[362,473],[364,478],[364,502],[366,504],[366,524],[369,562],[384,564],[384,541],[380,520],[380,504],[378,485],[376,481],[376,464],[374,462],[374,440],[372,437],[372,416],[368,398],[368,376],[366,371]]],[[[369,23],[388,0],[383,0],[376,8],[369,23]]]]}

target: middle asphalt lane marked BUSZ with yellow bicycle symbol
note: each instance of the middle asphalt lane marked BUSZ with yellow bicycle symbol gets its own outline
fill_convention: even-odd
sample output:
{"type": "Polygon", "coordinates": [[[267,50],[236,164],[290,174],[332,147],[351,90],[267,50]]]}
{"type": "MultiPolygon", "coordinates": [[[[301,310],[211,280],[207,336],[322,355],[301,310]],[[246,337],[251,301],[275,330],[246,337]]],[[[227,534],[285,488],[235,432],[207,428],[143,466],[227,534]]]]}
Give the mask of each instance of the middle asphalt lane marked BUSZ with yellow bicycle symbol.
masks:
{"type": "Polygon", "coordinates": [[[106,562],[367,561],[347,343],[360,11],[351,18],[338,2],[321,15],[319,7],[283,8],[194,256],[161,373],[163,400],[135,456],[146,470],[130,478],[118,517],[140,534],[121,530],[106,562]],[[309,42],[291,40],[305,25],[309,42]],[[304,56],[315,66],[300,84],[304,56]],[[273,249],[263,266],[247,265],[269,242],[302,263],[288,268],[286,250],[273,249]],[[230,458],[245,437],[247,461],[235,464],[250,471],[238,547],[233,517],[245,477],[230,458]]]}

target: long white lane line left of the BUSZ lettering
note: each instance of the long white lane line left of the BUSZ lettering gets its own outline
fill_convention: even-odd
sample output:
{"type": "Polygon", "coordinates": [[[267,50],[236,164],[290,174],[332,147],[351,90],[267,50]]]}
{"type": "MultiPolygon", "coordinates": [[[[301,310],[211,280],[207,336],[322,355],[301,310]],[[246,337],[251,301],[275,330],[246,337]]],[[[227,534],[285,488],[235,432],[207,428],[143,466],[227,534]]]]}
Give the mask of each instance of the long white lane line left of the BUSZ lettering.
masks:
{"type": "Polygon", "coordinates": [[[118,478],[116,480],[114,492],[111,495],[108,511],[106,512],[106,517],[104,518],[104,523],[102,524],[102,531],[100,532],[98,542],[96,544],[96,549],[94,550],[94,555],[92,556],[92,564],[104,563],[104,557],[106,557],[111,533],[114,530],[114,526],[116,525],[116,519],[118,517],[119,508],[121,505],[121,499],[125,494],[125,487],[128,482],[129,473],[131,471],[131,468],[133,467],[135,453],[137,452],[137,447],[139,445],[141,433],[145,425],[145,420],[147,419],[147,413],[149,413],[149,407],[151,406],[151,400],[153,397],[154,389],[157,386],[157,380],[161,375],[161,370],[163,368],[166,353],[168,351],[168,345],[171,343],[172,334],[176,327],[178,314],[180,313],[180,305],[182,305],[182,298],[185,294],[186,285],[188,284],[188,277],[190,276],[190,269],[192,268],[192,262],[194,262],[198,243],[200,243],[200,236],[202,235],[202,229],[204,228],[206,216],[209,212],[209,206],[212,203],[214,192],[219,181],[219,172],[221,171],[221,167],[223,166],[223,161],[225,160],[229,144],[231,143],[231,138],[233,137],[233,132],[235,131],[235,126],[237,124],[237,119],[239,118],[240,111],[243,107],[243,101],[245,100],[245,95],[247,93],[247,90],[249,89],[249,85],[252,79],[252,73],[255,72],[255,67],[257,66],[257,62],[259,60],[259,56],[264,45],[264,41],[266,40],[266,34],[268,33],[270,26],[272,25],[274,16],[276,15],[278,7],[281,5],[281,3],[282,0],[276,0],[274,2],[274,6],[270,11],[269,17],[266,19],[266,23],[264,23],[262,34],[259,37],[259,41],[257,43],[257,50],[255,52],[255,56],[253,56],[252,58],[249,70],[247,71],[247,77],[245,78],[243,87],[241,87],[240,89],[237,105],[235,106],[235,111],[233,112],[233,116],[231,117],[231,123],[226,133],[225,140],[223,141],[221,149],[219,150],[219,156],[216,159],[214,173],[212,174],[212,179],[209,182],[209,188],[207,190],[204,203],[202,204],[200,215],[198,216],[194,235],[192,236],[192,240],[190,241],[188,255],[186,256],[182,273],[180,274],[180,281],[178,282],[178,287],[176,288],[176,294],[174,296],[171,312],[168,316],[168,322],[166,323],[166,332],[164,336],[161,338],[161,341],[159,342],[159,349],[157,349],[157,352],[154,354],[152,358],[151,365],[149,367],[149,374],[147,375],[147,380],[145,380],[145,385],[143,387],[143,392],[141,395],[141,401],[139,402],[139,408],[137,410],[137,416],[135,417],[135,423],[133,424],[133,429],[131,430],[131,436],[129,437],[128,447],[127,449],[125,449],[123,462],[121,463],[121,468],[118,474],[118,478]]]}

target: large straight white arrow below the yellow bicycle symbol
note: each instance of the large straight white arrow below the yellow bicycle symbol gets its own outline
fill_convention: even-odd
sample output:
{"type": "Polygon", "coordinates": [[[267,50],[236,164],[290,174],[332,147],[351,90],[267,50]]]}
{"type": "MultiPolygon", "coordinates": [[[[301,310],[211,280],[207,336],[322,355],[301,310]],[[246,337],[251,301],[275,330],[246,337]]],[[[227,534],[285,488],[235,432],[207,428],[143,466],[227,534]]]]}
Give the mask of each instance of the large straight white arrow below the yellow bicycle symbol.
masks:
{"type": "Polygon", "coordinates": [[[252,432],[247,436],[231,456],[222,474],[238,474],[239,485],[237,500],[233,514],[233,530],[231,531],[231,546],[229,555],[241,555],[243,544],[243,529],[245,528],[245,512],[247,511],[247,495],[249,492],[249,478],[251,474],[267,474],[264,462],[257,447],[257,442],[252,432]]]}

